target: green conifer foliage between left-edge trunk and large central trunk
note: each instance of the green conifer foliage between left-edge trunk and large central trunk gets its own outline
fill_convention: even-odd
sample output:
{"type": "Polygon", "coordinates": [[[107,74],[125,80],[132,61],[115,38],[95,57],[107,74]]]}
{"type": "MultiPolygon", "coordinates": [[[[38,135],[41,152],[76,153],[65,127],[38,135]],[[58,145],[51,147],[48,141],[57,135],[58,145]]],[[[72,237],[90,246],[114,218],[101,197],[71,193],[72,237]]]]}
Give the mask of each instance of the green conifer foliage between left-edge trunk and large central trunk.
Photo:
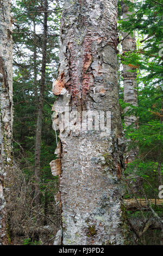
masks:
{"type": "MultiPolygon", "coordinates": [[[[45,95],[41,135],[41,174],[40,192],[42,214],[47,216],[54,211],[54,194],[58,180],[51,173],[49,162],[55,159],[57,147],[52,129],[51,108],[55,97],[52,82],[57,78],[59,65],[60,1],[49,1],[47,29],[47,59],[45,74],[45,95]],[[53,11],[52,11],[53,10],[53,11]]],[[[16,0],[12,4],[12,35],[14,40],[14,157],[26,178],[35,185],[35,133],[37,109],[40,96],[41,61],[43,47],[43,2],[16,0]]],[[[29,194],[32,188],[29,188],[29,194]]],[[[33,201],[34,202],[34,201],[33,201]]],[[[33,206],[34,203],[33,203],[33,206]]],[[[44,223],[46,224],[46,223],[44,223]]],[[[24,240],[25,244],[39,244],[24,240]]]]}

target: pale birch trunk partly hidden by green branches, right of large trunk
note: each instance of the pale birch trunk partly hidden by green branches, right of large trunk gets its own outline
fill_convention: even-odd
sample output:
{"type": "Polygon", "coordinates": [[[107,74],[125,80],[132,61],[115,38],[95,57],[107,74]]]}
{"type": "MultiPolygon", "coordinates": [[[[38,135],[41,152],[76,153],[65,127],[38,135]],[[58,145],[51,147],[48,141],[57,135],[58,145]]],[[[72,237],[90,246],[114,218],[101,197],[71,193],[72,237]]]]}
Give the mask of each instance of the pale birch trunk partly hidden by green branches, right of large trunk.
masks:
{"type": "MultiPolygon", "coordinates": [[[[134,0],[130,0],[134,2],[134,0]]],[[[129,7],[126,3],[122,2],[122,13],[123,20],[128,20],[128,15],[131,15],[129,11],[129,7]]],[[[133,35],[128,33],[123,33],[123,41],[122,41],[122,51],[125,52],[133,52],[136,50],[136,39],[135,32],[133,35]]],[[[130,103],[133,106],[137,106],[137,82],[136,82],[136,69],[131,66],[123,64],[123,85],[124,85],[124,102],[130,103]],[[135,70],[135,72],[129,72],[128,70],[135,70]]],[[[124,112],[127,112],[128,107],[124,109],[124,112]]],[[[134,124],[136,129],[136,121],[137,117],[134,115],[124,117],[126,126],[134,124]]],[[[127,163],[133,162],[135,160],[136,155],[138,154],[139,149],[131,149],[127,156],[127,163]]]]}

